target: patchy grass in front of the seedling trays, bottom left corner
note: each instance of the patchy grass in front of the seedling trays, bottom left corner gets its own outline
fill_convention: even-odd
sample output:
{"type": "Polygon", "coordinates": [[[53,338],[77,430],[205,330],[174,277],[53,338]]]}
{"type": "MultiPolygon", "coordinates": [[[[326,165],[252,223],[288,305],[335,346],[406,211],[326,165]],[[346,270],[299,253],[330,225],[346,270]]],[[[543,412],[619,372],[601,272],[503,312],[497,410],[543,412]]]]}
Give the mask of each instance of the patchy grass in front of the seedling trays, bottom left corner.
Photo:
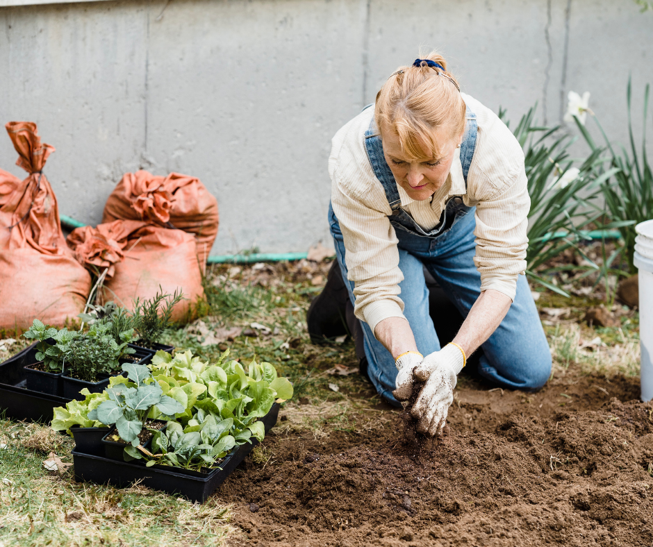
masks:
{"type": "Polygon", "coordinates": [[[192,504],[136,485],[76,483],[42,465],[72,440],[44,426],[0,419],[0,546],[185,546],[224,544],[228,507],[192,504]]]}

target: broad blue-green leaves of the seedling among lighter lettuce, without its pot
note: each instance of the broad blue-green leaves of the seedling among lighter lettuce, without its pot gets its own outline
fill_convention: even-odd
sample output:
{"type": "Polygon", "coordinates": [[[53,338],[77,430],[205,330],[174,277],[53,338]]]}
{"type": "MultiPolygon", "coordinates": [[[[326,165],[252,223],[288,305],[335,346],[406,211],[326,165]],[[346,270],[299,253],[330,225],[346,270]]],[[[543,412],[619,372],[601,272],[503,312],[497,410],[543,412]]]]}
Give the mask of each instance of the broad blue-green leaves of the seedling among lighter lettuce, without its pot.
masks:
{"type": "Polygon", "coordinates": [[[122,369],[135,387],[126,384],[110,387],[106,390],[109,400],[89,412],[88,418],[99,420],[106,426],[115,424],[122,440],[138,446],[138,434],[151,412],[174,416],[185,409],[174,398],[163,394],[163,389],[144,364],[127,363],[122,365],[122,369]]]}

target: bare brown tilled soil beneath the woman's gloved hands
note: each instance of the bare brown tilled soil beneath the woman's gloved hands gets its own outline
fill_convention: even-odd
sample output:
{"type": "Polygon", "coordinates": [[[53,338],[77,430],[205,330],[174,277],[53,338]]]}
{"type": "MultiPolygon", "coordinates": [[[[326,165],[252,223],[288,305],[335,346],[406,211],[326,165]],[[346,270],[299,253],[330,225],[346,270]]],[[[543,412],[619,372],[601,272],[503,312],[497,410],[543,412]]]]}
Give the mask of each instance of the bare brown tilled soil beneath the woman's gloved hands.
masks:
{"type": "Polygon", "coordinates": [[[246,460],[215,494],[234,504],[232,544],[653,545],[653,404],[637,380],[461,384],[447,435],[422,451],[396,411],[317,439],[279,423],[274,463],[246,460]]]}

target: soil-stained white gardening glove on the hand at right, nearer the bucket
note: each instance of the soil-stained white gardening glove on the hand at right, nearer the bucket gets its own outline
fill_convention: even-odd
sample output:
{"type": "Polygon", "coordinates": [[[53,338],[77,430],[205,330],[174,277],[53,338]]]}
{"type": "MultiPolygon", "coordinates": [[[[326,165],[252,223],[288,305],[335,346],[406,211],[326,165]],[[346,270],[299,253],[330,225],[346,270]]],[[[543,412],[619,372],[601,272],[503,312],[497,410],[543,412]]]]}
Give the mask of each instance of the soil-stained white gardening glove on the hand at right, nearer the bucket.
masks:
{"type": "Polygon", "coordinates": [[[418,380],[427,380],[411,416],[418,420],[417,430],[431,437],[441,435],[447,424],[447,412],[454,402],[456,377],[465,366],[465,353],[457,344],[447,344],[440,351],[424,357],[413,373],[418,380]]]}

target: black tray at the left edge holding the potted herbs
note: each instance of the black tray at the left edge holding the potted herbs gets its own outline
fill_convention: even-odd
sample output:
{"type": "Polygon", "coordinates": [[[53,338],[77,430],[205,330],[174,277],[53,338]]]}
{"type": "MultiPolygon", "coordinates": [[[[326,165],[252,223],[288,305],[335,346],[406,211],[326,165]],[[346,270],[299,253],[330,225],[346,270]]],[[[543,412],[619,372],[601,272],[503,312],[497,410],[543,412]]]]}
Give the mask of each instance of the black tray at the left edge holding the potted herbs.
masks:
{"type": "Polygon", "coordinates": [[[50,423],[53,408],[65,406],[63,397],[27,389],[24,367],[36,362],[36,344],[0,363],[0,412],[7,418],[50,423]]]}

